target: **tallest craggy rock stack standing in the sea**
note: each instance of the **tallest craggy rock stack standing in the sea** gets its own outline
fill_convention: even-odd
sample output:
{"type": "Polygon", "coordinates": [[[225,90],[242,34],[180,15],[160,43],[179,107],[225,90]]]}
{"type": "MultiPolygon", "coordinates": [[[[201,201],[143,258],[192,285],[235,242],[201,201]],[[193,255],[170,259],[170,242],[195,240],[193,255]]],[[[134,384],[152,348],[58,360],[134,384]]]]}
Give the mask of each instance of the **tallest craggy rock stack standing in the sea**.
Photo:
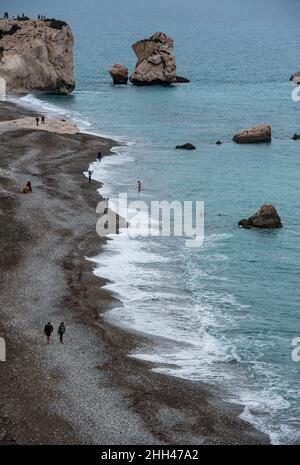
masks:
{"type": "Polygon", "coordinates": [[[176,59],[171,37],[163,32],[156,32],[149,39],[135,42],[132,48],[138,57],[130,77],[132,84],[149,86],[176,82],[176,59]]]}

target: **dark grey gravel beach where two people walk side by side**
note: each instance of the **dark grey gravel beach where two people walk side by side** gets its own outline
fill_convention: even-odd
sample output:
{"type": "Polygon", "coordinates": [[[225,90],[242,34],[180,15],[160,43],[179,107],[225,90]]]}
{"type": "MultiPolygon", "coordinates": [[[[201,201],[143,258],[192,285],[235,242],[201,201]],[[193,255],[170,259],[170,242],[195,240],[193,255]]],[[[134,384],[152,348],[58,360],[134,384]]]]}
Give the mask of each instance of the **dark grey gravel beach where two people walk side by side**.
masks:
{"type": "MultiPolygon", "coordinates": [[[[0,121],[28,115],[0,103],[0,121]]],[[[209,386],[128,357],[151,341],[102,318],[118,302],[85,260],[105,240],[95,229],[99,184],[83,171],[115,145],[85,134],[0,134],[0,444],[268,443],[239,419],[241,406],[220,402],[209,386]],[[28,179],[33,193],[25,195],[28,179]]]]}

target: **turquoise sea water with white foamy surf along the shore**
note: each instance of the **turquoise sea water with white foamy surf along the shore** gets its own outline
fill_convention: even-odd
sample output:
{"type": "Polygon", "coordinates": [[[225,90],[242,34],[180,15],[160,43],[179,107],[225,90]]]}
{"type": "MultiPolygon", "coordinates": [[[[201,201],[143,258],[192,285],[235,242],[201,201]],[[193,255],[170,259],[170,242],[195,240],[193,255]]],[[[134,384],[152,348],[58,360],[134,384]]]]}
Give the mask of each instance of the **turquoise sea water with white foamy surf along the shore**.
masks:
{"type": "Polygon", "coordinates": [[[1,8],[70,23],[77,87],[69,97],[27,96],[23,103],[129,142],[93,166],[110,198],[127,192],[147,202],[205,202],[199,249],[175,238],[120,235],[109,243],[97,273],[112,280],[108,287],[124,306],[108,319],[160,336],[133,356],[221,387],[274,442],[299,443],[300,364],[291,341],[300,336],[300,142],[291,136],[300,132],[300,103],[289,82],[300,68],[299,2],[40,3],[2,0],[1,8]],[[109,67],[133,70],[130,45],[159,30],[173,36],[178,74],[191,83],[113,87],[109,67]],[[231,142],[238,130],[264,122],[272,125],[272,144],[231,142]],[[185,142],[197,150],[174,150],[185,142]],[[239,219],[265,202],[277,207],[284,228],[240,230],[239,219]]]}

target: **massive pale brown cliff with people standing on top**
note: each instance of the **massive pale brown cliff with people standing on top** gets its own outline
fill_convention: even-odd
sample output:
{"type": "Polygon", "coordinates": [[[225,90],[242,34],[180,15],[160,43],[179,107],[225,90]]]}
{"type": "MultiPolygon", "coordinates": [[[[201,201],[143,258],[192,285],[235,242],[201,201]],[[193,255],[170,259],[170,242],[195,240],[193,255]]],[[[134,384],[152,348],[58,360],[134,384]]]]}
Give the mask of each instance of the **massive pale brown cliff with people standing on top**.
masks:
{"type": "Polygon", "coordinates": [[[73,35],[58,20],[0,20],[0,77],[12,93],[74,90],[73,35]]]}

